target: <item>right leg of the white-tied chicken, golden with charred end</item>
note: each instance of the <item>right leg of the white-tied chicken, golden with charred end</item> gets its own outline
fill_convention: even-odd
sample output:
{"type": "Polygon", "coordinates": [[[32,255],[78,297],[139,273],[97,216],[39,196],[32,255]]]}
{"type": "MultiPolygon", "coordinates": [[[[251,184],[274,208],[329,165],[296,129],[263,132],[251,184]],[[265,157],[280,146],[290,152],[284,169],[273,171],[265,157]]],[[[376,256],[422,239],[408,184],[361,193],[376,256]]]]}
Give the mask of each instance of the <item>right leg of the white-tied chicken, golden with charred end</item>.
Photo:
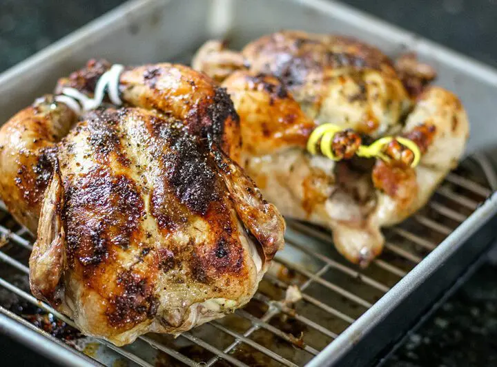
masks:
{"type": "Polygon", "coordinates": [[[240,120],[233,103],[212,79],[183,65],[144,65],[121,74],[123,99],[182,120],[188,132],[213,138],[226,154],[240,151],[240,120]]]}

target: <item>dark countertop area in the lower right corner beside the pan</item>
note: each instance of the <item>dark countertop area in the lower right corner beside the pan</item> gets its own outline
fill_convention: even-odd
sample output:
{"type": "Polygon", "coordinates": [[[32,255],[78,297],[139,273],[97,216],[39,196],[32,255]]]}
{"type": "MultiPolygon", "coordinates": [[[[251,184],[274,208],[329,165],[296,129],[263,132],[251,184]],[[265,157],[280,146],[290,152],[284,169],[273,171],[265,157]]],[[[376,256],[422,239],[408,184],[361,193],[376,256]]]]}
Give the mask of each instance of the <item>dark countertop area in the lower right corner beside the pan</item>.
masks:
{"type": "Polygon", "coordinates": [[[483,265],[385,366],[497,366],[496,264],[483,265]]]}

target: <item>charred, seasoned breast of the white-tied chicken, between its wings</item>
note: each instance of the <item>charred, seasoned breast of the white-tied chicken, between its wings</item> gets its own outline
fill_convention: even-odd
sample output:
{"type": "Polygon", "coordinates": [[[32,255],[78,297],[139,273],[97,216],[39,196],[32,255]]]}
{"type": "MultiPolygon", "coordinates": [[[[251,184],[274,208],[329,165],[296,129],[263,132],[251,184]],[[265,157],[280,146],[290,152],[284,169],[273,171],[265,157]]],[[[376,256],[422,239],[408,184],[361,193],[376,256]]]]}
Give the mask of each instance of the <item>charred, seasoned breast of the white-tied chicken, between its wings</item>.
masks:
{"type": "MultiPolygon", "coordinates": [[[[250,299],[261,271],[252,240],[211,152],[182,123],[137,108],[96,112],[64,139],[59,161],[70,275],[55,304],[85,333],[116,344],[178,333],[193,304],[250,299]]],[[[260,243],[267,264],[281,242],[260,243]]]]}

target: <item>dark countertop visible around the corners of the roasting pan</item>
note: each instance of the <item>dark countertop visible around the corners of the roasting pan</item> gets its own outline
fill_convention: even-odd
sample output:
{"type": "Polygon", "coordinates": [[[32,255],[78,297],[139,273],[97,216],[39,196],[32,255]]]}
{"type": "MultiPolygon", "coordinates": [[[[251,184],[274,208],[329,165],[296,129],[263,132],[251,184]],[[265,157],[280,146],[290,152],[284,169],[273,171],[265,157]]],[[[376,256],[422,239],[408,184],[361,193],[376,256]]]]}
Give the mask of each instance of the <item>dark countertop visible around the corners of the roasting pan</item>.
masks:
{"type": "MultiPolygon", "coordinates": [[[[344,2],[497,66],[497,0],[344,2]]],[[[0,72],[120,3],[0,0],[0,72]]],[[[6,337],[0,345],[3,366],[52,365],[6,337]]],[[[497,366],[497,261],[483,265],[386,366],[497,366]]]]}

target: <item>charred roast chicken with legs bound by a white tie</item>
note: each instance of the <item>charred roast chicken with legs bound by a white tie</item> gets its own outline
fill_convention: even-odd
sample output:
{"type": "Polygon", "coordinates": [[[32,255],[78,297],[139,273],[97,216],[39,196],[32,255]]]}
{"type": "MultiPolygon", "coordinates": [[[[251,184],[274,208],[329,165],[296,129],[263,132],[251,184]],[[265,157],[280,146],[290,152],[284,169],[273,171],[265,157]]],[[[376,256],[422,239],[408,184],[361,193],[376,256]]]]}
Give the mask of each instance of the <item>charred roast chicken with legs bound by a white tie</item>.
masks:
{"type": "MultiPolygon", "coordinates": [[[[91,96],[109,66],[90,61],[55,94],[91,96]]],[[[38,233],[32,293],[123,345],[246,304],[283,246],[284,221],[232,160],[238,116],[211,78],[129,67],[119,91],[124,107],[77,116],[45,96],[13,116],[0,130],[0,194],[38,233]]]]}

